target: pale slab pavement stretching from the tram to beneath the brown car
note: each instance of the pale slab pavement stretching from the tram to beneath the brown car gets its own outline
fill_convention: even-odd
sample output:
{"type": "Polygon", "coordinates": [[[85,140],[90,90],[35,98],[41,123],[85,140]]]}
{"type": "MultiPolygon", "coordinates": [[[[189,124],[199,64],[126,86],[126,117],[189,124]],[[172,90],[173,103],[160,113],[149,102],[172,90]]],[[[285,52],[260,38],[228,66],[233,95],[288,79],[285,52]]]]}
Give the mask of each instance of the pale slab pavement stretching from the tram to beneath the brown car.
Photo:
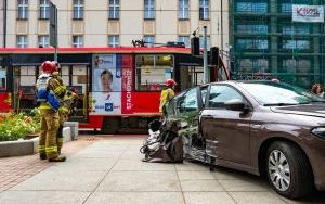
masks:
{"type": "MultiPolygon", "coordinates": [[[[77,143],[82,140],[70,142],[64,148],[67,162],[51,164],[0,190],[0,203],[297,203],[278,196],[264,180],[248,174],[224,168],[211,173],[208,166],[192,162],[143,163],[139,153],[143,139],[105,137],[91,143],[84,140],[81,148],[77,143]]],[[[316,194],[304,202],[325,203],[325,196],[316,194]]]]}

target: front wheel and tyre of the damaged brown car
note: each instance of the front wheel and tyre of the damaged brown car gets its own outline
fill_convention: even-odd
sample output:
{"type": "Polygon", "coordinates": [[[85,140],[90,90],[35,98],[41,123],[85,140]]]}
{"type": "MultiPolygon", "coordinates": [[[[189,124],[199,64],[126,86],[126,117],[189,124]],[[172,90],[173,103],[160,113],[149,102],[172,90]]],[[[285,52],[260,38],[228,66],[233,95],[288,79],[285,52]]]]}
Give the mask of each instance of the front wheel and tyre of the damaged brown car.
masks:
{"type": "Polygon", "coordinates": [[[297,145],[273,142],[266,153],[266,174],[274,190],[286,197],[298,199],[313,190],[310,163],[297,145]]]}

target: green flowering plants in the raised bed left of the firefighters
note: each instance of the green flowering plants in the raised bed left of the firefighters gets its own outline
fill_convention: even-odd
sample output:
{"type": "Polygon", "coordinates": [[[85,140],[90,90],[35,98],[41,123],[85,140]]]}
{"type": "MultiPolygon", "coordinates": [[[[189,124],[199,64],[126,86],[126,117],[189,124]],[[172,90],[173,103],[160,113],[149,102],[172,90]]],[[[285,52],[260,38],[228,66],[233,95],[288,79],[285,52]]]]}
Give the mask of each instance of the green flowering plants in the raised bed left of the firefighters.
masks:
{"type": "Polygon", "coordinates": [[[40,112],[34,109],[29,115],[26,113],[0,116],[0,141],[12,141],[24,138],[40,130],[40,112]]]}

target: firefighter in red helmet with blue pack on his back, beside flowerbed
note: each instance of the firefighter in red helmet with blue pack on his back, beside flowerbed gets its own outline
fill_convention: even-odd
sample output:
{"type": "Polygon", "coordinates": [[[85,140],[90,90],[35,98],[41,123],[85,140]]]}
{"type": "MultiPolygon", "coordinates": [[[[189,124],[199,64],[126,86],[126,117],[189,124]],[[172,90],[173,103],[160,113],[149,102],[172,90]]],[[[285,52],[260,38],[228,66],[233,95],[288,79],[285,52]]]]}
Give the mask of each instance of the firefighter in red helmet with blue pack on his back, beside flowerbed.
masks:
{"type": "Polygon", "coordinates": [[[40,102],[41,130],[39,137],[40,160],[49,162],[64,162],[65,156],[60,156],[57,152],[56,131],[58,129],[58,95],[64,94],[60,81],[52,74],[56,66],[51,61],[46,61],[41,65],[42,74],[38,77],[37,101],[40,102]]]}

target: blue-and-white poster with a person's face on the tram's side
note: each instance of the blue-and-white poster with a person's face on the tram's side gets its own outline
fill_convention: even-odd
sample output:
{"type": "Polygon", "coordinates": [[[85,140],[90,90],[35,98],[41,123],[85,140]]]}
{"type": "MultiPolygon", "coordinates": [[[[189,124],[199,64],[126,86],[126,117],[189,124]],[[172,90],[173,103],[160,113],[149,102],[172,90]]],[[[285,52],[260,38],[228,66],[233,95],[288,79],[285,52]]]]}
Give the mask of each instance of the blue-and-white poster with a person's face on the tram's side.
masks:
{"type": "Polygon", "coordinates": [[[93,62],[91,114],[121,114],[121,55],[98,54],[93,62]]]}

